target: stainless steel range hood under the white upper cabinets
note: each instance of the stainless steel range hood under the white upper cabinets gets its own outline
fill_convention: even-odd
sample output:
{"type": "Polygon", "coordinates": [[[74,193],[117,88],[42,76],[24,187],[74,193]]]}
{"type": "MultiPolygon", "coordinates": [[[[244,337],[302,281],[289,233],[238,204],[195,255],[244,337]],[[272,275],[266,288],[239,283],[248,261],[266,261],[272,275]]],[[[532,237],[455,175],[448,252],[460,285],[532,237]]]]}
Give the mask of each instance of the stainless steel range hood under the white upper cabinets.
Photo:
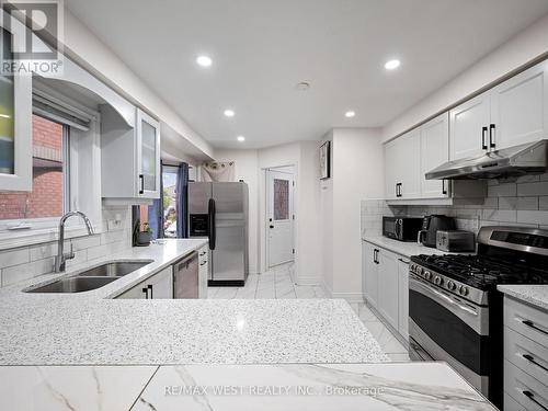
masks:
{"type": "Polygon", "coordinates": [[[446,162],[426,173],[426,180],[479,180],[546,172],[548,140],[446,162]]]}

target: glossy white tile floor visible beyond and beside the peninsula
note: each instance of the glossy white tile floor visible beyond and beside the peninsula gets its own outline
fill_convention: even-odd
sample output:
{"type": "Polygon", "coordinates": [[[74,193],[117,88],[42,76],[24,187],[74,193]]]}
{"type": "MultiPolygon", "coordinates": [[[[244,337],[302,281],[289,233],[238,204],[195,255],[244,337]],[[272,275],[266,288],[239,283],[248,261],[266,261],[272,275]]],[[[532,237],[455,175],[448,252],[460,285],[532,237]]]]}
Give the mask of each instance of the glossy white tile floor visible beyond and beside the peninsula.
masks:
{"type": "MultiPolygon", "coordinates": [[[[208,298],[326,298],[321,286],[295,285],[293,270],[293,264],[286,264],[263,274],[251,274],[244,287],[209,287],[208,298]]],[[[351,307],[392,361],[410,361],[408,350],[365,304],[354,302],[351,307]]]]}

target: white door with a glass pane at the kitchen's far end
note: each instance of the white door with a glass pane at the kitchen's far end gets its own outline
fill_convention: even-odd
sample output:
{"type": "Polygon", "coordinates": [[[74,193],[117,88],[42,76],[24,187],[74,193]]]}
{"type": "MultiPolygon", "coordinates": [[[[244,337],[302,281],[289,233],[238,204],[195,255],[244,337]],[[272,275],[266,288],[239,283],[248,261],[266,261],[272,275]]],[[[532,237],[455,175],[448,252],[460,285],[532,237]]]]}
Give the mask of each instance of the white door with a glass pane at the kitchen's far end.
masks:
{"type": "Polygon", "coordinates": [[[294,260],[294,175],[266,170],[267,265],[273,267],[294,260]]]}

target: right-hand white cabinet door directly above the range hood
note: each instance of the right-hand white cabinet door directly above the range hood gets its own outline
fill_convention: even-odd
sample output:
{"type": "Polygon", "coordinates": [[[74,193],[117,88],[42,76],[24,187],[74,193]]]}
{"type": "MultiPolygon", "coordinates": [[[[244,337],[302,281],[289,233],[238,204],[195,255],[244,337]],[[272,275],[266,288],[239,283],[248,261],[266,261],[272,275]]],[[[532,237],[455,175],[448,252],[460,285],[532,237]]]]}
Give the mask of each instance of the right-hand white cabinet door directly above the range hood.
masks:
{"type": "Polygon", "coordinates": [[[493,149],[548,138],[548,62],[504,81],[491,91],[493,149]]]}

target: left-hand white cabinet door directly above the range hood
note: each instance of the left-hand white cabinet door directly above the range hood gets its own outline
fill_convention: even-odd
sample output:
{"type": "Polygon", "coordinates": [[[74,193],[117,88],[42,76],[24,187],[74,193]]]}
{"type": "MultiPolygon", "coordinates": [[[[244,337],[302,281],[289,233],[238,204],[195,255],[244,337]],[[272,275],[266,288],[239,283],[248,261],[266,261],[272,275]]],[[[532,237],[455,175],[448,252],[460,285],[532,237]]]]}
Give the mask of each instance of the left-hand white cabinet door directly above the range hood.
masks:
{"type": "Polygon", "coordinates": [[[468,100],[449,112],[450,160],[480,156],[488,150],[489,112],[489,92],[468,100]]]}

